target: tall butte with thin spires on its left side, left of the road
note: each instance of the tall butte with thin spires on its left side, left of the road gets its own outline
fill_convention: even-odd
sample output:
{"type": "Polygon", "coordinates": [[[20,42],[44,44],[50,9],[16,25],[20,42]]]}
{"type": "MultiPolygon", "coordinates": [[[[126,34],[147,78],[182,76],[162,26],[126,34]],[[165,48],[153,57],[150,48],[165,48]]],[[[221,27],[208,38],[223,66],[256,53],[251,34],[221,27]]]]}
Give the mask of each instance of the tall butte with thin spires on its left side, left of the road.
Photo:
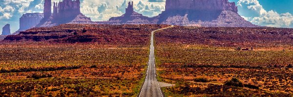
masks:
{"type": "MultiPolygon", "coordinates": [[[[51,0],[45,0],[44,6],[50,6],[46,3],[51,0]]],[[[47,12],[47,8],[44,8],[44,12],[47,12]]],[[[53,14],[44,19],[36,27],[52,27],[66,23],[78,23],[78,24],[92,24],[93,22],[89,17],[84,16],[80,11],[80,0],[63,0],[59,3],[54,2],[53,14]]]]}

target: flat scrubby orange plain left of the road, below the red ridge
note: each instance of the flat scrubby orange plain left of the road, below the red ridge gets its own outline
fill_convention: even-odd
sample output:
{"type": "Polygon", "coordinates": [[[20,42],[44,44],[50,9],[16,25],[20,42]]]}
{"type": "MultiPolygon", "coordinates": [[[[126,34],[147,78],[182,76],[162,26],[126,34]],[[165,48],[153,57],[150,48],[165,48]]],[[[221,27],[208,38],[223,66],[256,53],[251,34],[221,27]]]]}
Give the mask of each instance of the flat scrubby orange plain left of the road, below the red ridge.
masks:
{"type": "Polygon", "coordinates": [[[1,47],[1,96],[138,94],[148,60],[147,45],[46,45],[1,47]]]}

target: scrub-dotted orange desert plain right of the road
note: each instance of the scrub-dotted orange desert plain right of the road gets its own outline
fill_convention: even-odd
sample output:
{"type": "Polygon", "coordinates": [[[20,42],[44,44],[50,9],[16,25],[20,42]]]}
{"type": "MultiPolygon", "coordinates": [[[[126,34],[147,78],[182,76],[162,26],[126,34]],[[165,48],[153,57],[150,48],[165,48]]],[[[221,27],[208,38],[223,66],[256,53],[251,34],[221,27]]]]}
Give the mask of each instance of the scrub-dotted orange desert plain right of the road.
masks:
{"type": "Polygon", "coordinates": [[[174,27],[156,32],[159,80],[176,84],[164,88],[165,95],[291,97],[292,35],[293,29],[283,28],[174,27]]]}

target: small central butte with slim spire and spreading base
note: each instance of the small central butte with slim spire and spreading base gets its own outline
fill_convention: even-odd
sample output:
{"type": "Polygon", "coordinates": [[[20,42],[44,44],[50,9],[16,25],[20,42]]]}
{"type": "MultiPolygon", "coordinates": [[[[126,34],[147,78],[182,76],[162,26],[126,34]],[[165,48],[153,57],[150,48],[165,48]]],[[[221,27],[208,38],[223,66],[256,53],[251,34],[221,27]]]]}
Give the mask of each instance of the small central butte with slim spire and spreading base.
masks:
{"type": "Polygon", "coordinates": [[[125,14],[119,17],[111,17],[109,21],[96,22],[98,24],[156,24],[154,18],[143,16],[133,10],[133,2],[128,2],[125,14]]]}

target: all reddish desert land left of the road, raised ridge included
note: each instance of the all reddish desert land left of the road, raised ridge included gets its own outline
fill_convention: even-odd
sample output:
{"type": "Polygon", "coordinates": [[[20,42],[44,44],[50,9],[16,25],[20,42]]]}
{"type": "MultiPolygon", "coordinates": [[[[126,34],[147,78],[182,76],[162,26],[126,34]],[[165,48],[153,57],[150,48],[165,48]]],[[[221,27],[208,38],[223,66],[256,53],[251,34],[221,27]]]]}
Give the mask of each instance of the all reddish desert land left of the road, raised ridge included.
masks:
{"type": "Polygon", "coordinates": [[[135,97],[144,81],[149,31],[161,27],[68,24],[10,35],[0,42],[0,97],[135,97]],[[70,37],[83,36],[74,32],[96,34],[92,38],[102,40],[69,41],[70,37]],[[71,33],[73,36],[64,38],[42,38],[71,33]]]}

